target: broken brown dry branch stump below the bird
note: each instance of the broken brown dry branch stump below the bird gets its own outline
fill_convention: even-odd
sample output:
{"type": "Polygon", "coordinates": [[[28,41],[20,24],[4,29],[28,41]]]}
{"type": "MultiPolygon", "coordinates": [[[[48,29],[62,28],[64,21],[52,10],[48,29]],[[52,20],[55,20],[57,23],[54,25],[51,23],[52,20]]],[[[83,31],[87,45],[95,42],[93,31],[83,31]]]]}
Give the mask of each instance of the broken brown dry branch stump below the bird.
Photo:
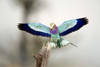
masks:
{"type": "Polygon", "coordinates": [[[50,56],[51,46],[49,43],[43,44],[42,49],[38,56],[33,57],[36,59],[36,67],[47,67],[49,56],[50,56]]]}

